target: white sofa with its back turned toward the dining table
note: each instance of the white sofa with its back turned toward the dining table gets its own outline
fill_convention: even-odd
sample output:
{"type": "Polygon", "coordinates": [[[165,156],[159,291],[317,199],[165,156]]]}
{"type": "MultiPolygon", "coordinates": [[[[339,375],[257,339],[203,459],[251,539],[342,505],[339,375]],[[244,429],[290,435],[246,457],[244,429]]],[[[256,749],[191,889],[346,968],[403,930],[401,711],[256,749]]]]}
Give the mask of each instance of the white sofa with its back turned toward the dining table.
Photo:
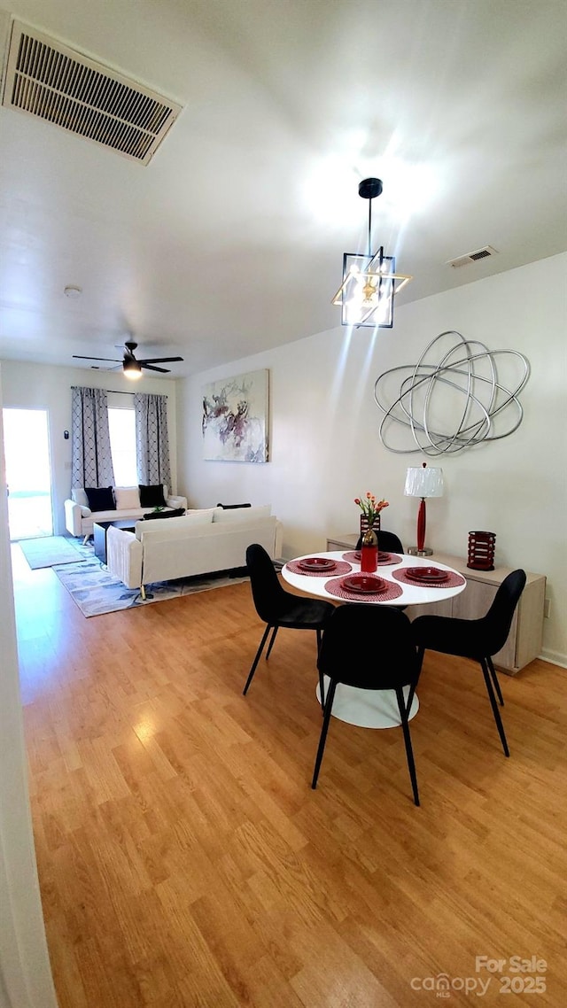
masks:
{"type": "Polygon", "coordinates": [[[281,523],[271,507],[205,508],[179,518],[139,521],[133,532],[109,528],[107,568],[127,588],[246,564],[246,547],[259,542],[281,555],[281,523]]]}

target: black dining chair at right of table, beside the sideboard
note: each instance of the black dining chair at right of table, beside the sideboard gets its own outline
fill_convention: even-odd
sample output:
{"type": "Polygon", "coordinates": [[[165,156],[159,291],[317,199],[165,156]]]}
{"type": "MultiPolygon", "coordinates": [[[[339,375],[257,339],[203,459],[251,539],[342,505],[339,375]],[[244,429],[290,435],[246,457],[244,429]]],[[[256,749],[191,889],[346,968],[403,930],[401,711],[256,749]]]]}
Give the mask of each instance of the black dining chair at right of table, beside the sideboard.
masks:
{"type": "Polygon", "coordinates": [[[503,698],[492,662],[492,656],[506,642],[516,607],[526,585],[526,572],[513,571],[508,574],[494,596],[488,612],[475,620],[463,620],[452,616],[418,616],[412,623],[412,635],[418,648],[420,673],[424,654],[440,651],[454,654],[459,658],[478,661],[492,714],[500,736],[504,756],[509,756],[502,719],[496,704],[496,696],[503,707],[503,698]],[[494,696],[494,690],[496,696],[494,696]]]}

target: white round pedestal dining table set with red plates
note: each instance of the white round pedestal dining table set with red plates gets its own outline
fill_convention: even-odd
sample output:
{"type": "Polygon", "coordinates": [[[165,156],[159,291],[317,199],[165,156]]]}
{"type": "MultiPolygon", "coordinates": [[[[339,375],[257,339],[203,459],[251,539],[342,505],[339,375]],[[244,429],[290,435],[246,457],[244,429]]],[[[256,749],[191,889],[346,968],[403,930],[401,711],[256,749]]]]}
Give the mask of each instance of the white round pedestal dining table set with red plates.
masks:
{"type": "MultiPolygon", "coordinates": [[[[348,597],[345,597],[339,579],[360,574],[360,560],[355,558],[355,551],[349,549],[304,553],[302,556],[296,556],[284,564],[281,577],[289,585],[306,595],[326,599],[339,605],[362,603],[371,606],[402,606],[404,608],[423,606],[441,602],[443,599],[450,599],[459,595],[466,588],[466,579],[446,563],[439,563],[437,560],[433,562],[427,556],[411,556],[408,553],[390,553],[389,556],[390,559],[394,559],[394,562],[380,562],[375,574],[383,582],[398,586],[396,592],[402,589],[394,599],[388,598],[389,585],[385,586],[383,598],[380,598],[379,594],[358,595],[355,593],[348,593],[348,597]],[[326,572],[302,572],[299,564],[315,557],[332,560],[336,566],[326,572]],[[404,572],[405,569],[432,566],[450,575],[449,583],[445,587],[441,587],[441,583],[438,585],[422,585],[417,582],[410,584],[406,580],[400,581],[395,578],[395,572],[404,572]],[[328,591],[327,585],[331,585],[334,592],[328,591]],[[341,592],[341,595],[337,595],[337,591],[341,592]]],[[[404,574],[402,577],[405,577],[404,574]]],[[[324,681],[325,689],[327,689],[330,680],[325,676],[324,681]]],[[[406,687],[406,699],[408,699],[409,688],[409,686],[406,687]]],[[[317,684],[317,697],[321,702],[319,683],[317,684]]],[[[418,696],[414,694],[410,719],[415,718],[419,707],[418,696]]],[[[394,728],[401,724],[395,694],[392,689],[358,689],[341,682],[335,692],[332,713],[333,717],[340,721],[346,721],[361,728],[394,728]]]]}

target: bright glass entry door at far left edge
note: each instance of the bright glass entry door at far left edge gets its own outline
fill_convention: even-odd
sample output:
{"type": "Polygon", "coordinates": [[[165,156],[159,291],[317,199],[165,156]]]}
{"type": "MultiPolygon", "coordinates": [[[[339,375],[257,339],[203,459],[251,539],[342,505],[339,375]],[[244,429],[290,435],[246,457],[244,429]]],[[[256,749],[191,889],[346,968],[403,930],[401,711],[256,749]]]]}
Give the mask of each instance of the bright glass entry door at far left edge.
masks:
{"type": "Polygon", "coordinates": [[[3,410],[10,540],[53,534],[45,409],[3,410]]]}

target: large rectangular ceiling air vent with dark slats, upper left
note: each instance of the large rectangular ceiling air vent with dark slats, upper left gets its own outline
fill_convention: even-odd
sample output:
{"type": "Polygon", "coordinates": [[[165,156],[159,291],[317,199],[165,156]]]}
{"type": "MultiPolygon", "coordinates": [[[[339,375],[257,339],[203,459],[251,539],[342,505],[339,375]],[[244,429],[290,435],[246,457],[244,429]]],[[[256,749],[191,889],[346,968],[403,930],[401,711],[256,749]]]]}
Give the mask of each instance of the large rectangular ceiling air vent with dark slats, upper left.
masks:
{"type": "Polygon", "coordinates": [[[182,106],[14,21],[2,105],[147,164],[182,106]]]}

